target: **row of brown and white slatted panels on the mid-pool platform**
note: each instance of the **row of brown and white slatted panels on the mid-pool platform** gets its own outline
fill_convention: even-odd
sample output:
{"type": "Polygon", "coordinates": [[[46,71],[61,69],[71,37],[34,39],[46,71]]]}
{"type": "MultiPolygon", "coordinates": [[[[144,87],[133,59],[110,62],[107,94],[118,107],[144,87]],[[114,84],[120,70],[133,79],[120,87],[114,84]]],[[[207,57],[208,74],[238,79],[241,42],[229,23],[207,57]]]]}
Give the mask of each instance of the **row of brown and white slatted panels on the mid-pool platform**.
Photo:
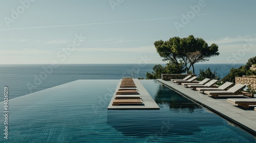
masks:
{"type": "Polygon", "coordinates": [[[132,78],[122,79],[112,105],[143,105],[137,86],[132,78]]]}

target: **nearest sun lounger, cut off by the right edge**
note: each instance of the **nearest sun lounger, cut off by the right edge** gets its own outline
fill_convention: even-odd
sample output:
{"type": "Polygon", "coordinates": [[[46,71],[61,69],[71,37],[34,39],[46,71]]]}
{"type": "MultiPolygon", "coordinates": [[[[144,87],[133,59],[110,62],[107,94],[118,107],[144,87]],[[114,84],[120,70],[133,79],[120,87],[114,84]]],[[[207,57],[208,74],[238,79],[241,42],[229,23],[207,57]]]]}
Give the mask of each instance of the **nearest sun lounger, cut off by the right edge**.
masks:
{"type": "MultiPolygon", "coordinates": [[[[245,98],[245,99],[227,99],[228,102],[233,104],[238,104],[238,106],[249,108],[249,105],[256,106],[256,99],[255,98],[245,98]]],[[[255,108],[254,108],[255,109],[255,108]]]]}

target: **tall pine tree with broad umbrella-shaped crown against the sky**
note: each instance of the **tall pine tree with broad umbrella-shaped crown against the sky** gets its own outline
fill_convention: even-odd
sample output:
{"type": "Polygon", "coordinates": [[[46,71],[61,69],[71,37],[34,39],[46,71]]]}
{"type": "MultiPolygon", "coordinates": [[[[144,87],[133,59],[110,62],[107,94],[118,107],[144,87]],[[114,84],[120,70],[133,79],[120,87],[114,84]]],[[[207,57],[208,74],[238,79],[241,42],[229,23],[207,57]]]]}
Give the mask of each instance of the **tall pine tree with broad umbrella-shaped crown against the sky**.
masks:
{"type": "Polygon", "coordinates": [[[192,67],[195,74],[195,63],[208,61],[210,57],[220,54],[217,44],[212,43],[208,46],[202,38],[195,38],[193,35],[185,38],[173,37],[168,41],[159,40],[154,45],[157,53],[163,57],[163,61],[172,61],[177,65],[179,73],[182,73],[182,69],[178,66],[180,60],[184,63],[187,73],[192,67]]]}

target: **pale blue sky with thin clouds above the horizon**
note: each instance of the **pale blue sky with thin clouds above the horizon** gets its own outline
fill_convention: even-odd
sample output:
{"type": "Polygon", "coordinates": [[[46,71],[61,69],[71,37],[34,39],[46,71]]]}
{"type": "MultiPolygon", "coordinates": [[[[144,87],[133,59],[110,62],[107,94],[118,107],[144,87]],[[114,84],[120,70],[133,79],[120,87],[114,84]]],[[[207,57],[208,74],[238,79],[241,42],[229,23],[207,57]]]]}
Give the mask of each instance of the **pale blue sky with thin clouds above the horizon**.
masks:
{"type": "Polygon", "coordinates": [[[1,1],[0,64],[165,63],[154,42],[188,35],[219,45],[220,55],[206,63],[246,63],[256,56],[255,6],[254,0],[1,1]]]}

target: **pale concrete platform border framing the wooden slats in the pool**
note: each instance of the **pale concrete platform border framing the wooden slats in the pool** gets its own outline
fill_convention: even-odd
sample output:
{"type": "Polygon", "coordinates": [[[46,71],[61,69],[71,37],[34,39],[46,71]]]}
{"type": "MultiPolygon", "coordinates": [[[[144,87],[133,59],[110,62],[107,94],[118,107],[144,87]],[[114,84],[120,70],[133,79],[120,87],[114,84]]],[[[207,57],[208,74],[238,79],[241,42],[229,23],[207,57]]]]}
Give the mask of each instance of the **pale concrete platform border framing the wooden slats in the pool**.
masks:
{"type": "Polygon", "coordinates": [[[159,110],[159,106],[157,105],[157,103],[154,101],[154,99],[150,96],[150,93],[147,92],[147,90],[145,89],[145,87],[140,83],[140,81],[138,79],[133,79],[135,85],[137,86],[138,92],[140,94],[140,97],[144,103],[144,105],[119,105],[119,106],[113,106],[113,100],[115,99],[116,96],[116,92],[118,91],[120,84],[121,84],[121,80],[119,82],[119,84],[117,85],[117,88],[113,94],[113,97],[110,101],[110,104],[108,106],[108,110],[123,110],[123,109],[149,109],[149,110],[159,110]]]}

